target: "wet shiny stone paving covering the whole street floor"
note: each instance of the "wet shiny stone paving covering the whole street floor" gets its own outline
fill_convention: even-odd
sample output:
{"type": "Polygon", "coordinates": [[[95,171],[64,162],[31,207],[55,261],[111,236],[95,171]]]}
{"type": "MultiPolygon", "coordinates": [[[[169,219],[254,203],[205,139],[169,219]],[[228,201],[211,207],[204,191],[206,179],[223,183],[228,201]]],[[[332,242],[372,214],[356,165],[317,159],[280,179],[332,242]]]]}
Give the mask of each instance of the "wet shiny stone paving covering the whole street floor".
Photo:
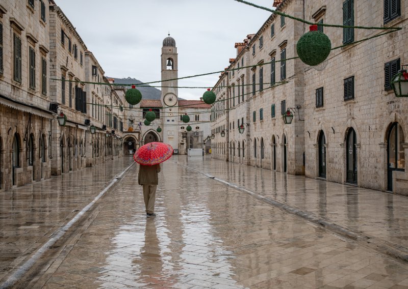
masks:
{"type": "MultiPolygon", "coordinates": [[[[96,182],[99,190],[106,186],[109,177],[113,178],[130,163],[127,159],[122,161],[123,164],[112,166],[113,171],[104,181],[96,182]]],[[[382,231],[388,235],[378,236],[390,241],[397,236],[396,224],[400,234],[406,230],[408,205],[404,206],[404,197],[395,199],[394,195],[380,192],[375,192],[378,197],[369,197],[365,193],[374,191],[362,192],[360,188],[286,176],[209,157],[174,156],[163,164],[159,174],[155,218],[145,216],[142,190],[137,185],[138,166],[134,165],[97,201],[97,208],[84,216],[73,237],[61,246],[63,250],[48,256],[48,266],[39,268],[29,283],[17,283],[16,287],[408,289],[407,263],[211,180],[183,164],[258,194],[268,194],[303,210],[323,214],[327,219],[358,226],[353,227],[356,230],[365,228],[365,218],[368,218],[369,227],[384,226],[382,231]],[[353,195],[347,203],[348,192],[353,195]],[[384,199],[380,194],[384,194],[384,199]],[[385,204],[393,202],[394,215],[380,209],[385,199],[388,199],[385,204]],[[370,206],[364,206],[365,203],[370,206]],[[375,205],[377,203],[379,205],[375,205]],[[377,212],[370,216],[373,209],[377,212]]],[[[90,171],[93,169],[103,168],[90,171]]],[[[74,179],[73,175],[71,178],[74,179]]],[[[60,181],[63,183],[60,191],[54,193],[62,199],[48,197],[47,201],[41,197],[45,191],[38,188],[31,190],[31,197],[27,192],[19,197],[20,190],[24,193],[27,186],[16,189],[13,194],[0,193],[2,217],[6,216],[3,215],[5,210],[11,211],[7,218],[1,219],[1,236],[5,236],[6,228],[7,238],[14,238],[15,250],[20,249],[20,254],[27,250],[21,246],[30,247],[25,244],[28,240],[45,241],[49,232],[69,221],[68,212],[86,206],[92,199],[91,192],[66,196],[71,186],[87,186],[89,190],[92,187],[89,177],[78,174],[76,178],[82,182],[60,181]],[[15,209],[10,207],[13,198],[19,199],[15,209]],[[74,206],[77,198],[78,206],[74,206]],[[23,232],[30,232],[27,229],[11,230],[7,222],[22,220],[19,214],[29,219],[33,213],[28,208],[33,204],[52,211],[61,208],[65,212],[57,210],[32,217],[35,224],[39,220],[43,222],[36,225],[37,229],[44,227],[33,234],[38,237],[24,236],[23,232]]],[[[58,190],[51,185],[46,188],[58,190]]],[[[97,193],[95,187],[93,196],[97,193]]],[[[371,230],[365,232],[372,233],[371,230]]],[[[404,245],[403,238],[400,240],[404,245]]],[[[2,241],[1,245],[6,243],[2,241]]],[[[13,246],[7,248],[11,250],[13,246]]],[[[17,259],[18,253],[14,253],[17,259]]],[[[2,273],[5,276],[8,272],[3,270],[2,273]]],[[[1,279],[0,284],[3,281],[1,279]]]]}

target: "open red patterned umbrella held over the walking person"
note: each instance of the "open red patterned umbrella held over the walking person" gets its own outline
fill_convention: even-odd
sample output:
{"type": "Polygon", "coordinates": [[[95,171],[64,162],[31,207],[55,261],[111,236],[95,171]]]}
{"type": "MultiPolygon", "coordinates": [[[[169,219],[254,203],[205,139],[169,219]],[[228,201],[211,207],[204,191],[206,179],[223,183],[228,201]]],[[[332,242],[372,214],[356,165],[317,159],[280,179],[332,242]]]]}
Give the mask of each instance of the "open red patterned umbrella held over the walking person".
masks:
{"type": "Polygon", "coordinates": [[[142,165],[155,165],[168,160],[172,154],[173,148],[167,143],[149,142],[136,151],[133,159],[142,165]]]}

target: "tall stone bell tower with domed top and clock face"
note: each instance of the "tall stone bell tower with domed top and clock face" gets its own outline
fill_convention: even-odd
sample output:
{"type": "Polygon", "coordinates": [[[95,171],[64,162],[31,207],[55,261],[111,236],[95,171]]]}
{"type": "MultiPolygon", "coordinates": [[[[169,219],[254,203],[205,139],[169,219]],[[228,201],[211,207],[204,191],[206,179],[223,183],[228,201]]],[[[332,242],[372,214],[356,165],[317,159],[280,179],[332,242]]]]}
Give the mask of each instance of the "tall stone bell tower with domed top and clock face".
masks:
{"type": "Polygon", "coordinates": [[[163,105],[163,142],[169,143],[173,149],[179,149],[179,81],[177,73],[177,47],[174,38],[166,37],[162,47],[162,95],[163,105]],[[175,80],[171,80],[175,79],[175,80]],[[170,87],[168,87],[170,86],[170,87]]]}

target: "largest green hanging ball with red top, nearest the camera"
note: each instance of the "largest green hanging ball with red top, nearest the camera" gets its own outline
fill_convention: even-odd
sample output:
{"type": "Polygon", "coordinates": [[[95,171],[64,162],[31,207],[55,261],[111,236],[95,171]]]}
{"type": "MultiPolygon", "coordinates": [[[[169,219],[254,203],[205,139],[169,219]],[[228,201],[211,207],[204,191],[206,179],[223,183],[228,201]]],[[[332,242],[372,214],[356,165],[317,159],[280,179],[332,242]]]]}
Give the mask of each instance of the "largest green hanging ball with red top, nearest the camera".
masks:
{"type": "Polygon", "coordinates": [[[331,50],[331,42],[327,35],[319,31],[310,31],[300,37],[296,45],[300,60],[315,66],[326,60],[331,50]]]}

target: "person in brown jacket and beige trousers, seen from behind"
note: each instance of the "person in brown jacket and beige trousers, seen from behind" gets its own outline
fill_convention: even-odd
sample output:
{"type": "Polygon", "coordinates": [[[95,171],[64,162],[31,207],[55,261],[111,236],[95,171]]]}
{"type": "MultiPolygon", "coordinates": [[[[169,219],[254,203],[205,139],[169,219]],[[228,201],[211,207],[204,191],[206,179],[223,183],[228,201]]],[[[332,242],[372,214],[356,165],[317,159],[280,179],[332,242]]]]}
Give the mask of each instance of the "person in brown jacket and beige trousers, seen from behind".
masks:
{"type": "Polygon", "coordinates": [[[143,199],[146,207],[146,217],[154,217],[156,189],[159,184],[157,173],[160,172],[160,164],[140,165],[139,185],[143,186],[143,199]]]}

